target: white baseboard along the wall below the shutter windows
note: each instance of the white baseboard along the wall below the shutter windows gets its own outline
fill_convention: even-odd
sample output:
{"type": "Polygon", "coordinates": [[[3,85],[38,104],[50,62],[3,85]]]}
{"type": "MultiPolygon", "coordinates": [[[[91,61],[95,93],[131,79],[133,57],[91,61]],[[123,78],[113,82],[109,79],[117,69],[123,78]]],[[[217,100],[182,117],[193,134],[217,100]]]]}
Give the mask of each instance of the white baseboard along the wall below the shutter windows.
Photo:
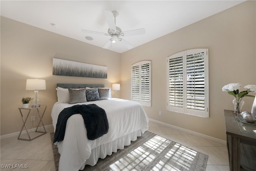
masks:
{"type": "Polygon", "coordinates": [[[164,123],[164,122],[161,122],[161,121],[158,121],[158,120],[155,120],[155,119],[150,119],[149,118],[149,120],[153,121],[153,122],[156,122],[156,123],[160,123],[160,124],[168,126],[168,127],[172,127],[174,129],[178,129],[180,131],[184,131],[184,132],[187,132],[187,133],[191,133],[193,135],[197,135],[199,137],[203,137],[203,138],[206,138],[206,139],[209,139],[209,140],[212,140],[212,141],[216,141],[216,142],[221,143],[221,144],[225,144],[225,145],[227,144],[227,142],[222,140],[222,139],[218,139],[218,138],[215,138],[215,137],[211,137],[209,135],[204,135],[202,133],[198,133],[198,132],[191,131],[191,130],[188,130],[188,129],[184,129],[184,128],[181,128],[181,127],[177,127],[177,126],[174,126],[174,125],[170,125],[168,123],[164,123]]]}

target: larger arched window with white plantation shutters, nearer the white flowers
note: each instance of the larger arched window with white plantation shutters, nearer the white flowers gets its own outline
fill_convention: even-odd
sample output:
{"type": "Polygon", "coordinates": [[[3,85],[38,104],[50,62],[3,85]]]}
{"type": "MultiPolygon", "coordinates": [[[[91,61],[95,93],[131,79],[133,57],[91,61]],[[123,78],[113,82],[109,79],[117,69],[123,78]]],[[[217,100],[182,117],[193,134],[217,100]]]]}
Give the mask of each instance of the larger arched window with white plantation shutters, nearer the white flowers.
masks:
{"type": "Polygon", "coordinates": [[[179,52],[167,63],[168,110],[209,117],[208,49],[179,52]]]}

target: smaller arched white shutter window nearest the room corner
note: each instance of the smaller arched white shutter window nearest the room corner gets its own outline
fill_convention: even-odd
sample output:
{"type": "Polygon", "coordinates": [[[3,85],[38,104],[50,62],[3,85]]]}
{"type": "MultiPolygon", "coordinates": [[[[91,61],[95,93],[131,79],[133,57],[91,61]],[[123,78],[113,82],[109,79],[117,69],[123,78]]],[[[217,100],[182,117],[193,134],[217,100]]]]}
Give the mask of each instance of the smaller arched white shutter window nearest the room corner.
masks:
{"type": "Polygon", "coordinates": [[[151,106],[151,62],[132,65],[132,100],[151,106]]]}

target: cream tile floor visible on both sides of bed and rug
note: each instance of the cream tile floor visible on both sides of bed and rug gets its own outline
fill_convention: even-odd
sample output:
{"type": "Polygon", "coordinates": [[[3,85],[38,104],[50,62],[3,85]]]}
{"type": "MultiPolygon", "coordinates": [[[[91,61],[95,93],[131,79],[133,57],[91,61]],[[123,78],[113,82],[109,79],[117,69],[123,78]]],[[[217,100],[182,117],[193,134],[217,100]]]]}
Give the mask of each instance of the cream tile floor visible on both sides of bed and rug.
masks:
{"type": "MultiPolygon", "coordinates": [[[[50,132],[53,127],[46,129],[48,133],[32,141],[17,140],[17,137],[1,139],[1,171],[54,171],[54,159],[50,132]],[[24,169],[3,168],[4,164],[20,164],[24,169]],[[22,165],[23,164],[23,165],[22,165]]],[[[192,135],[177,129],[166,127],[150,121],[149,130],[167,139],[209,155],[206,171],[229,171],[228,150],[226,145],[192,135]]]]}

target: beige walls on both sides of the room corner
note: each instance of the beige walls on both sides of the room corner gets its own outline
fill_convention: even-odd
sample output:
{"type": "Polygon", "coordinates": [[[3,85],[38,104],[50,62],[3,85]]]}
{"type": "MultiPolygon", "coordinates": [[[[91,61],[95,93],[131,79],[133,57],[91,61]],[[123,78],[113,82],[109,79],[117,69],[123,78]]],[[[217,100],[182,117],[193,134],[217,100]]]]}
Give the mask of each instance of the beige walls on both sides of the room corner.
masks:
{"type": "MultiPolygon", "coordinates": [[[[144,107],[152,119],[226,139],[223,109],[233,109],[232,96],[223,85],[256,84],[256,2],[248,1],[201,20],[142,46],[118,54],[46,30],[1,17],[1,135],[20,131],[21,98],[34,96],[25,90],[26,79],[46,80],[39,91],[48,106],[45,125],[56,102],[56,83],[121,83],[121,98],[130,99],[130,66],[152,61],[152,107],[144,107]],[[166,58],[176,52],[209,49],[210,118],[166,110],[166,58]],[[52,58],[108,67],[108,79],[52,76],[52,58]],[[162,115],[158,115],[162,111],[162,115]]],[[[156,30],[157,31],[157,30],[156,30]]],[[[114,92],[113,92],[114,93],[114,92]]],[[[253,98],[245,97],[250,111],[253,98]]],[[[35,114],[35,113],[34,113],[35,114]]],[[[29,128],[31,122],[29,122],[29,128]]]]}

